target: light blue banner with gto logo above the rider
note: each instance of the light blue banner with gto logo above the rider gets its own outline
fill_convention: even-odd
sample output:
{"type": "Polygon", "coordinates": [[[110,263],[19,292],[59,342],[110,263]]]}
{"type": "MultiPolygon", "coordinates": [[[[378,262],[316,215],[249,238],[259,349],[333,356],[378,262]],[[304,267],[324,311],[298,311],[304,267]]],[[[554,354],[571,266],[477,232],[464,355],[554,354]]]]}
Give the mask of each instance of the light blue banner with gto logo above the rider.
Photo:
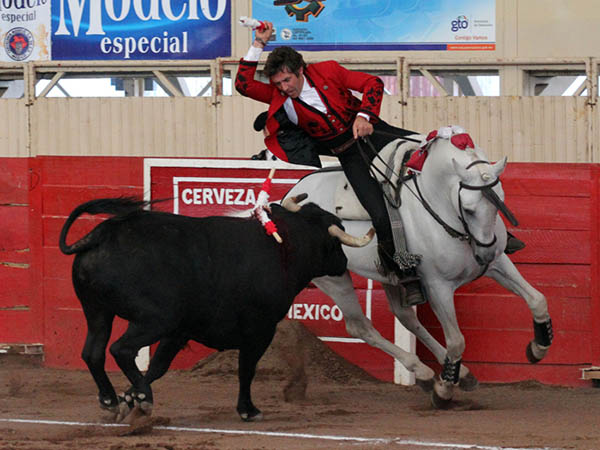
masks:
{"type": "Polygon", "coordinates": [[[252,15],[297,50],[496,48],[496,0],[253,0],[252,15]]]}

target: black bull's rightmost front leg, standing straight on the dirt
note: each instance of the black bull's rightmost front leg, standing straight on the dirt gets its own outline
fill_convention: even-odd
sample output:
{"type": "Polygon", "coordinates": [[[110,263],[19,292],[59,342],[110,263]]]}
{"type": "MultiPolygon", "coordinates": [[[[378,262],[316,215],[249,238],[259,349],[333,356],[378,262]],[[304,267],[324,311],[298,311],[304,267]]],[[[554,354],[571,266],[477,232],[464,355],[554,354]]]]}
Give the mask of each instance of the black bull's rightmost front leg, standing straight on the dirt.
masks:
{"type": "Polygon", "coordinates": [[[251,385],[256,373],[256,364],[262,358],[275,335],[275,326],[260,335],[249,338],[248,344],[240,348],[238,378],[239,393],[237,412],[246,422],[262,420],[262,412],[252,403],[251,385]]]}

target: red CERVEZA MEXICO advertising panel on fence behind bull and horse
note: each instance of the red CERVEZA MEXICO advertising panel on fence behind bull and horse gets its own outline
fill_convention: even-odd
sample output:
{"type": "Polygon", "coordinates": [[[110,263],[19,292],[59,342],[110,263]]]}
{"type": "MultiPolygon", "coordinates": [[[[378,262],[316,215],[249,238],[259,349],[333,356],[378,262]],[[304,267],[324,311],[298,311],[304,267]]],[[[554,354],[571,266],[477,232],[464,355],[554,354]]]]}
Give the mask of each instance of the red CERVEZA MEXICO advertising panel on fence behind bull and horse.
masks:
{"type": "MultiPolygon", "coordinates": [[[[300,178],[313,171],[279,161],[148,158],[144,161],[144,192],[147,200],[172,199],[152,207],[176,214],[205,217],[247,212],[254,207],[272,167],[277,171],[270,202],[281,200],[300,178]]],[[[394,341],[398,330],[382,286],[358,276],[354,276],[354,284],[366,316],[382,336],[394,341]]],[[[393,359],[350,337],[340,308],[316,287],[309,286],[296,297],[287,318],[302,322],[334,351],[374,376],[387,381],[395,379],[393,359]]],[[[193,365],[211,352],[190,342],[189,349],[177,356],[174,367],[193,365]]]]}

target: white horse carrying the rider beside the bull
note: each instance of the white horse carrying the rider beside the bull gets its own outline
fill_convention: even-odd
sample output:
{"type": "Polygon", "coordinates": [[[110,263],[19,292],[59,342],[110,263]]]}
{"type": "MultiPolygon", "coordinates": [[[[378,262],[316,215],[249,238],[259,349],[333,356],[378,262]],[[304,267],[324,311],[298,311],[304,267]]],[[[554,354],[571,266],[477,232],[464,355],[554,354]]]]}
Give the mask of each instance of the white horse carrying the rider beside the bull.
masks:
{"type": "MultiPolygon", "coordinates": [[[[459,149],[451,140],[456,130],[456,127],[440,129],[437,137],[423,141],[427,142],[428,156],[422,171],[412,180],[405,181],[400,191],[400,213],[407,248],[410,253],[422,255],[417,272],[430,306],[442,325],[446,346],[437,342],[423,327],[414,308],[403,304],[398,279],[380,274],[375,240],[360,249],[345,249],[349,270],[383,284],[395,316],[442,364],[439,376],[435,376],[416,355],[379,334],[363,314],[348,272],[341,277],[313,280],[342,310],[347,332],[388,353],[413,372],[417,384],[426,392],[431,391],[432,403],[437,408],[448,406],[455,386],[472,390],[478,385],[469,369],[461,364],[465,340],[454,308],[454,292],[460,286],[485,275],[527,302],[534,323],[534,339],[526,350],[530,362],[544,358],[552,342],[552,322],[546,298],[521,276],[504,253],[507,233],[498,212],[516,225],[516,219],[504,204],[504,192],[499,182],[506,158],[492,164],[477,146],[459,149]]],[[[414,148],[415,144],[396,140],[380,153],[382,160],[389,157],[388,165],[396,168],[392,184],[398,182],[398,168],[408,147],[414,148]]],[[[309,199],[322,208],[342,218],[354,219],[343,222],[348,232],[364,234],[371,227],[368,216],[363,217],[366,211],[357,212],[362,208],[356,197],[344,200],[339,195],[340,190],[351,191],[348,186],[342,171],[324,170],[304,177],[287,195],[307,193],[309,199]]]]}

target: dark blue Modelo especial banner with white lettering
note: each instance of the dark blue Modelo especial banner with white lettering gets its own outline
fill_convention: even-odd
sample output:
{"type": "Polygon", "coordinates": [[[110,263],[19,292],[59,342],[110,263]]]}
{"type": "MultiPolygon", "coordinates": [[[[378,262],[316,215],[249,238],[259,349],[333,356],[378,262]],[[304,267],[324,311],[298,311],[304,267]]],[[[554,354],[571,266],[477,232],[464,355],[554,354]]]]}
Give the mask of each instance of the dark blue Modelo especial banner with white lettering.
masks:
{"type": "Polygon", "coordinates": [[[52,0],[53,60],[231,55],[230,0],[52,0]]]}

